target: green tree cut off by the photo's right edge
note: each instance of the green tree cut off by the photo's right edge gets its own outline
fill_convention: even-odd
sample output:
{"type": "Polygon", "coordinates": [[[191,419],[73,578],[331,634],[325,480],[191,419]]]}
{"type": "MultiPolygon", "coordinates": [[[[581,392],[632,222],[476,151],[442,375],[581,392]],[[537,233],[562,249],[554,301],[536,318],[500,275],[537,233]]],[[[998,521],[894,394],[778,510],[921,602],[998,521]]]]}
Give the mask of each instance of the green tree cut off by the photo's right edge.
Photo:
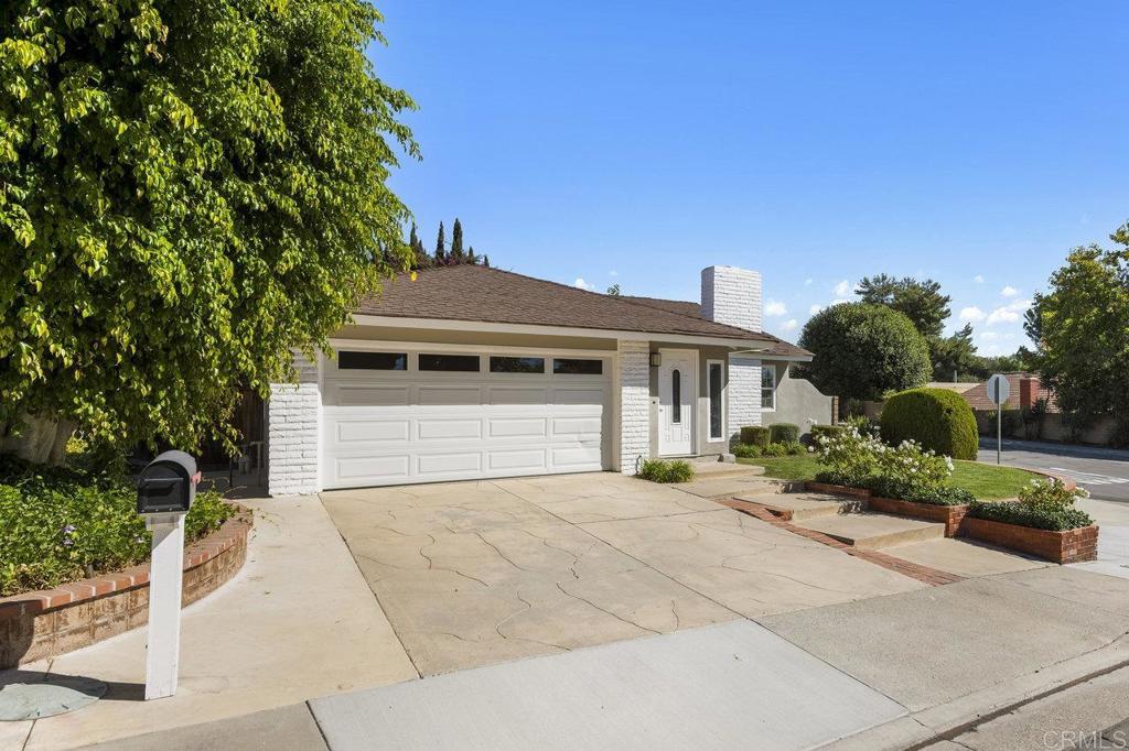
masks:
{"type": "Polygon", "coordinates": [[[1129,442],[1129,224],[1111,236],[1119,248],[1075,249],[1035,295],[1027,330],[1036,361],[1062,409],[1113,415],[1129,442]]]}

